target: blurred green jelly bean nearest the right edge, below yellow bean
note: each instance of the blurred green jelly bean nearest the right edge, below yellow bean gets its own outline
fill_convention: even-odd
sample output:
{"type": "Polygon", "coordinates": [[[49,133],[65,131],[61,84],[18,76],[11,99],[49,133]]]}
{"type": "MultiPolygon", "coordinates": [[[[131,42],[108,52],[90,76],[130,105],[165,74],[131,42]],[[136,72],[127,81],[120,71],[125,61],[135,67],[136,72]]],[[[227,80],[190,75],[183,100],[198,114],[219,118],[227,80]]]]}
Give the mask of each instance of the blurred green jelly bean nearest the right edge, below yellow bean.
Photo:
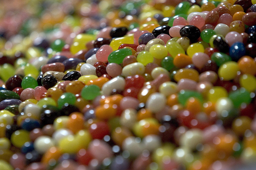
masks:
{"type": "Polygon", "coordinates": [[[243,87],[229,93],[229,98],[232,100],[235,107],[240,107],[242,103],[249,104],[252,101],[250,92],[243,87]]]}

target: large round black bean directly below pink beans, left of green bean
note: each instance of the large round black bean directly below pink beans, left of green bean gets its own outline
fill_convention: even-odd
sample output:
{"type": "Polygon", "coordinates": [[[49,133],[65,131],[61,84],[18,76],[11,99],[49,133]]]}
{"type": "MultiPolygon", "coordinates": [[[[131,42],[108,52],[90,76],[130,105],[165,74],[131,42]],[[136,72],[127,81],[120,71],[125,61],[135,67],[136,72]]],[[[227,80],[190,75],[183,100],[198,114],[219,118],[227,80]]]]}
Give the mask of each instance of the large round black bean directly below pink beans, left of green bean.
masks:
{"type": "Polygon", "coordinates": [[[182,37],[188,37],[190,41],[193,43],[200,37],[201,31],[196,26],[186,25],[181,28],[179,34],[182,37]]]}

